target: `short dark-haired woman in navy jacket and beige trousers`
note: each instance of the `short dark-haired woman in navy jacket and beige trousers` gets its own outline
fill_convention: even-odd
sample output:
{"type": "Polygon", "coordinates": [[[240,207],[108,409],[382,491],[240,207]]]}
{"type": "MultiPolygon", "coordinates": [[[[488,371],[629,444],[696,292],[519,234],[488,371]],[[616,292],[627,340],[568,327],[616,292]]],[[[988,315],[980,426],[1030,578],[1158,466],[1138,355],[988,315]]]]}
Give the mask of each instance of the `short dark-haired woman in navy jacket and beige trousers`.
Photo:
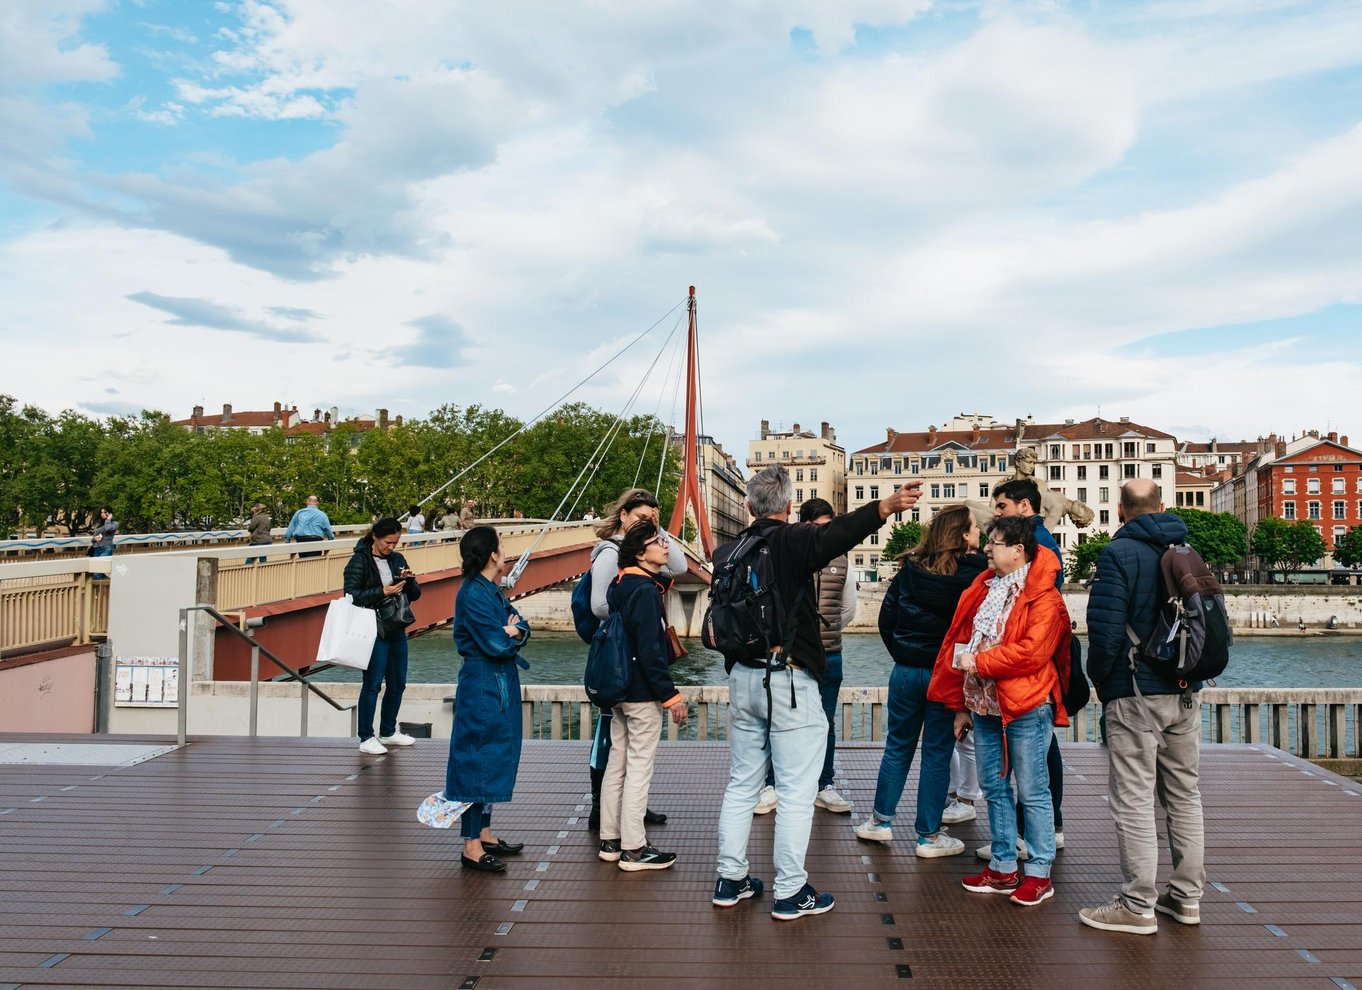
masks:
{"type": "Polygon", "coordinates": [[[633,663],[629,692],[612,711],[598,855],[627,872],[665,870],[676,862],[674,854],[654,848],[644,831],[662,714],[666,711],[677,724],[686,716],[685,701],[667,671],[671,650],[662,618],[662,595],[671,581],[661,572],[669,554],[667,542],[652,520],[635,523],[620,542],[620,573],[606,591],[610,609],[624,618],[633,663]]]}

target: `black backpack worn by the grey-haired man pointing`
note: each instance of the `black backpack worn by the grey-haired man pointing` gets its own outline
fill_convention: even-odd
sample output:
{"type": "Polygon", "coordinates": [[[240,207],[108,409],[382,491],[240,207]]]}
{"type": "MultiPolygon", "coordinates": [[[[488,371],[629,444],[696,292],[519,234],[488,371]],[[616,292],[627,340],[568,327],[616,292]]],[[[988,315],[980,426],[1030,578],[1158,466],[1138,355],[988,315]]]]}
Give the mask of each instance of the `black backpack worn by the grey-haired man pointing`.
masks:
{"type": "Polygon", "coordinates": [[[787,662],[793,636],[794,613],[780,599],[765,537],[748,530],[716,549],[710,607],[700,629],[704,645],[723,654],[727,670],[734,663],[779,670],[787,662]]]}

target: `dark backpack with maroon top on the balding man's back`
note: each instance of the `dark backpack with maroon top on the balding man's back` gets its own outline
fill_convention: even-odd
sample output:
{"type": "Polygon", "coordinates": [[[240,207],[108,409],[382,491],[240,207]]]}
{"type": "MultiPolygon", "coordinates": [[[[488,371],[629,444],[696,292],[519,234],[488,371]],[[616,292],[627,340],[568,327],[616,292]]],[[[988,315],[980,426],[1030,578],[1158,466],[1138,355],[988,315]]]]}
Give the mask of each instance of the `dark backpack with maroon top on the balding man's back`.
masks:
{"type": "Polygon", "coordinates": [[[1224,609],[1224,590],[1186,543],[1171,543],[1159,558],[1159,583],[1165,603],[1150,639],[1140,643],[1129,624],[1130,671],[1136,660],[1186,689],[1193,681],[1209,681],[1230,663],[1234,635],[1224,609]]]}

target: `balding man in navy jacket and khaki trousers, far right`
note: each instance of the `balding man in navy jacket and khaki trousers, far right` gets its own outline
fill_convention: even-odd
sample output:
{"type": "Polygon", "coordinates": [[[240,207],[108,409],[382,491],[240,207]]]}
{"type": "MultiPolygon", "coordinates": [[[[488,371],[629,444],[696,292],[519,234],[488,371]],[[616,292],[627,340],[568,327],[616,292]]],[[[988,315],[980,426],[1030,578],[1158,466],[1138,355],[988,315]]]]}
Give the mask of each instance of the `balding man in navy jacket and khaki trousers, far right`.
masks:
{"type": "Polygon", "coordinates": [[[1103,931],[1152,936],[1159,930],[1155,912],[1182,925],[1201,921],[1200,685],[1184,689],[1139,662],[1132,673],[1133,644],[1126,629],[1140,643],[1154,633],[1166,594],[1163,552],[1170,543],[1185,542],[1188,530],[1163,511],[1159,486],[1147,478],[1121,488],[1117,515],[1124,526],[1102,549],[1088,595],[1088,678],[1106,714],[1107,788],[1125,882],[1110,903],[1079,911],[1079,921],[1103,931]],[[1167,813],[1173,851],[1173,878],[1158,895],[1155,795],[1167,813]]]}

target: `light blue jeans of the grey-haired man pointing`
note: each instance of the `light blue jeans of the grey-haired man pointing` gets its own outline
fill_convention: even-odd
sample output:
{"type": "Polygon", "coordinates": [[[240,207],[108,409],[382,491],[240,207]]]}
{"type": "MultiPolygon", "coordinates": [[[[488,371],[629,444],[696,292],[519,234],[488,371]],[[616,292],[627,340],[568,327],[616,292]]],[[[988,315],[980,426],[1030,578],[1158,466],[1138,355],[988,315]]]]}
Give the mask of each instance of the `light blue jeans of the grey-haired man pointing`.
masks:
{"type": "Polygon", "coordinates": [[[767,724],[771,727],[770,764],[775,772],[775,866],[772,893],[793,897],[809,881],[804,855],[813,825],[813,797],[828,744],[819,682],[798,667],[771,674],[770,718],[764,670],[735,666],[729,674],[729,786],[719,812],[719,876],[748,876],[748,837],[752,809],[765,780],[767,724]],[[793,693],[793,704],[791,704],[793,693]]]}

